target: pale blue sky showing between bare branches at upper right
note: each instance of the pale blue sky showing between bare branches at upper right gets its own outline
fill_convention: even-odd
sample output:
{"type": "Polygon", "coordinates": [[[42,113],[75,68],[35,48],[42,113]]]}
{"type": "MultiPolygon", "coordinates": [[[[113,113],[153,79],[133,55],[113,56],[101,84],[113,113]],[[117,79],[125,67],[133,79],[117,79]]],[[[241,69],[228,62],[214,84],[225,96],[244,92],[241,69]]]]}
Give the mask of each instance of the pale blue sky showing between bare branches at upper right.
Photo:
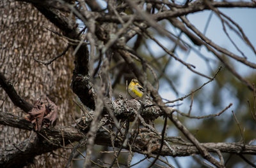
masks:
{"type": "MultiPolygon", "coordinates": [[[[224,13],[226,13],[228,16],[230,16],[232,19],[234,19],[237,24],[239,24],[246,36],[250,39],[251,43],[256,46],[256,19],[253,16],[256,16],[256,10],[253,9],[221,9],[221,11],[223,11],[224,13]]],[[[200,13],[194,13],[188,16],[189,20],[191,21],[191,23],[193,25],[196,26],[196,28],[198,28],[200,31],[204,30],[205,24],[207,22],[207,19],[209,17],[210,12],[209,11],[203,11],[200,13]]],[[[232,39],[234,39],[234,41],[236,42],[236,45],[239,46],[239,48],[241,48],[241,50],[243,50],[244,54],[246,55],[246,57],[248,57],[248,60],[255,62],[256,57],[255,54],[252,52],[252,50],[250,48],[248,48],[248,46],[244,45],[243,41],[241,41],[240,38],[237,38],[237,36],[234,36],[234,33],[228,31],[230,33],[230,36],[232,37],[232,39]]],[[[236,48],[232,45],[232,43],[229,41],[229,39],[227,38],[227,36],[225,35],[225,33],[223,32],[223,27],[221,25],[220,19],[216,17],[216,15],[214,14],[211,18],[211,22],[209,24],[209,27],[207,29],[206,32],[206,36],[209,39],[212,39],[212,41],[220,46],[222,46],[223,48],[227,48],[227,50],[230,50],[238,55],[239,52],[237,52],[236,48]]],[[[185,36],[182,36],[184,40],[186,40],[188,43],[191,43],[189,41],[188,38],[186,38],[185,36]]],[[[154,48],[154,46],[152,47],[154,48]]],[[[209,57],[212,59],[216,60],[216,57],[212,57],[212,54],[207,52],[207,50],[205,50],[204,47],[201,48],[202,54],[205,55],[205,57],[209,57]]],[[[156,50],[157,52],[157,50],[156,50]]],[[[158,51],[159,52],[159,51],[158,51]]],[[[200,71],[202,73],[206,73],[206,74],[210,74],[209,69],[206,67],[204,60],[200,59],[200,57],[196,56],[195,52],[191,52],[191,53],[186,53],[186,52],[177,52],[177,55],[179,55],[179,57],[187,57],[186,62],[193,64],[196,66],[196,71],[200,71]]],[[[239,73],[240,74],[246,74],[249,71],[253,71],[253,69],[251,69],[250,67],[246,67],[243,66],[242,64],[240,64],[239,62],[234,61],[237,65],[237,67],[239,68],[239,73]]],[[[213,65],[213,64],[212,64],[213,65]]],[[[175,71],[177,71],[177,67],[180,67],[180,64],[177,63],[177,65],[172,65],[172,67],[168,67],[168,71],[170,73],[176,73],[175,71]]],[[[214,65],[212,66],[214,67],[214,65]]],[[[214,67],[214,71],[216,71],[218,67],[214,67]]],[[[180,81],[179,85],[177,85],[177,87],[179,87],[179,90],[182,90],[184,92],[184,94],[187,94],[190,90],[191,87],[188,84],[188,81],[191,79],[191,76],[194,76],[193,73],[191,73],[191,71],[189,71],[186,67],[183,67],[182,69],[182,73],[180,73],[180,75],[183,76],[182,81],[180,81]]],[[[207,79],[202,78],[202,83],[204,83],[205,81],[207,81],[207,79]]],[[[162,85],[164,85],[165,83],[162,83],[162,85]]],[[[159,93],[161,95],[163,95],[164,98],[166,99],[175,99],[175,94],[169,94],[166,92],[166,86],[161,87],[163,89],[159,90],[159,93]]]]}

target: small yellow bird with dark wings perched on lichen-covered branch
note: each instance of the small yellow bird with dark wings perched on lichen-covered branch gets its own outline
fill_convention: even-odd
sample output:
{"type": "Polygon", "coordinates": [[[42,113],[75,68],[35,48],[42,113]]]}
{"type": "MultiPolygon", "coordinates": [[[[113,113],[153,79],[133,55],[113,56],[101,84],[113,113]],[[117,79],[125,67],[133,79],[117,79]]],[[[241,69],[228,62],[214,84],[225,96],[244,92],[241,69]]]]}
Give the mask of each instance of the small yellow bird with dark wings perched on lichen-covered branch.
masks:
{"type": "Polygon", "coordinates": [[[138,80],[132,79],[128,86],[128,93],[133,98],[142,97],[143,87],[139,84],[138,80]]]}

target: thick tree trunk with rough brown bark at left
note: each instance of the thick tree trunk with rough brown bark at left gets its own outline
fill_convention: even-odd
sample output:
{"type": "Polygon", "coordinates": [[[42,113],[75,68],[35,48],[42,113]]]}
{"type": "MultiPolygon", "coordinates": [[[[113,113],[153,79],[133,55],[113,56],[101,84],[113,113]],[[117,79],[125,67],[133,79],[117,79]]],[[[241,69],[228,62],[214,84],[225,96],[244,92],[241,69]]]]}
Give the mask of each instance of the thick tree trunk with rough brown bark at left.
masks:
{"type": "MultiPolygon", "coordinates": [[[[30,4],[3,0],[0,1],[0,6],[0,72],[13,81],[17,92],[32,104],[40,96],[47,95],[58,106],[58,125],[67,124],[75,111],[69,87],[74,69],[71,52],[68,50],[48,66],[35,61],[38,59],[46,62],[60,55],[67,48],[67,40],[55,34],[54,32],[60,31],[30,4]]],[[[26,115],[13,105],[2,88],[0,107],[3,112],[26,115]]],[[[13,127],[1,128],[0,148],[19,144],[30,134],[13,127]]],[[[63,150],[54,153],[58,154],[60,151],[63,150]]],[[[65,156],[65,153],[61,152],[61,155],[65,156]]],[[[47,167],[48,164],[63,167],[65,164],[61,157],[55,159],[49,157],[49,153],[36,157],[34,163],[40,167],[47,167]]]]}

